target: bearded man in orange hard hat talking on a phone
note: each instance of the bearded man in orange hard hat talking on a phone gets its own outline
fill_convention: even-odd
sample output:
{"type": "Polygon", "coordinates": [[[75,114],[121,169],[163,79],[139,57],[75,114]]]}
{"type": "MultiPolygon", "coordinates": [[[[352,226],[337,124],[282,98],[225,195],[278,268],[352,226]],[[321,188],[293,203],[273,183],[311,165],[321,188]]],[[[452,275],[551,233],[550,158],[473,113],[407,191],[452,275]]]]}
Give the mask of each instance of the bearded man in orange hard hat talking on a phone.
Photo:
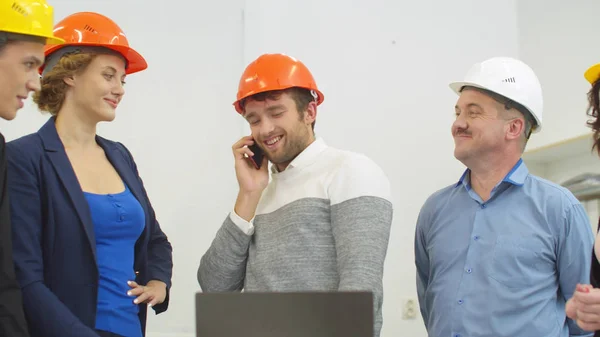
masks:
{"type": "Polygon", "coordinates": [[[234,103],[252,131],[233,145],[239,193],[198,282],[205,292],[370,291],[379,336],[390,183],[371,159],[315,137],[323,99],[292,57],[248,65],[234,103]]]}

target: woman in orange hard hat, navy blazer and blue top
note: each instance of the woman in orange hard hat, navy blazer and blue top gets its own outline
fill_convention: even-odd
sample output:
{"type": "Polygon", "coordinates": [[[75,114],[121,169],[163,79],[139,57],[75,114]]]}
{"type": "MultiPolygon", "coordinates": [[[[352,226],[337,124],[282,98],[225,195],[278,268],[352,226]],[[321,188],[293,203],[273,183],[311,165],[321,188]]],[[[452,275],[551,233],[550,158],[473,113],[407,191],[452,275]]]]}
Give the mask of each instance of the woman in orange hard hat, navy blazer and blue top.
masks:
{"type": "Polygon", "coordinates": [[[52,117],[7,144],[14,259],[32,336],[145,335],[147,308],[167,309],[172,248],[131,153],[96,135],[124,79],[147,67],[97,13],[55,26],[34,101],[52,117]]]}

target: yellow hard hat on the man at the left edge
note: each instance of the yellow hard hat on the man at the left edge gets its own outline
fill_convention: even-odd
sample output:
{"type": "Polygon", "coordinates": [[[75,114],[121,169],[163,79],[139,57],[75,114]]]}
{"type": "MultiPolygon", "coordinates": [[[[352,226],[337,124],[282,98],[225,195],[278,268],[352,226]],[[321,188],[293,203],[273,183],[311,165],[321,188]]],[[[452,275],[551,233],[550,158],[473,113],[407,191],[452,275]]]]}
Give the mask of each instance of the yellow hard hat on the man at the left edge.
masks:
{"type": "Polygon", "coordinates": [[[0,32],[46,38],[48,44],[64,43],[53,29],[54,9],[46,0],[0,0],[0,32]]]}

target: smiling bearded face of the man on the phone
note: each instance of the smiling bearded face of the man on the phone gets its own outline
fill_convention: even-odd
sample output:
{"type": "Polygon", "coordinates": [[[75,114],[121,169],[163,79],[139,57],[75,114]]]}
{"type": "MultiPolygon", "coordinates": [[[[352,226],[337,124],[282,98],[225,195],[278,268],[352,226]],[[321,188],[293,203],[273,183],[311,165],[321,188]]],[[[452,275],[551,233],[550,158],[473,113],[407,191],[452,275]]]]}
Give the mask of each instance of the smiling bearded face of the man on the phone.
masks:
{"type": "Polygon", "coordinates": [[[307,104],[305,111],[298,111],[290,92],[267,93],[265,99],[247,99],[244,110],[254,140],[279,171],[314,141],[314,101],[307,104]]]}

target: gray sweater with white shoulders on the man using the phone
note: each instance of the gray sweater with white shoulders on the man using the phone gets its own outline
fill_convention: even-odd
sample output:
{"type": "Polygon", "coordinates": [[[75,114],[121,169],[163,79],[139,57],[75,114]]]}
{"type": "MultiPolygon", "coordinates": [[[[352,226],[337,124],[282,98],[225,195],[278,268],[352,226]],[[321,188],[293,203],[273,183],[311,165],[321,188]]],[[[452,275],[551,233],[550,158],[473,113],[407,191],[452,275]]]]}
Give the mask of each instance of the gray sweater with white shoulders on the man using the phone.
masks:
{"type": "Polygon", "coordinates": [[[371,291],[377,337],[392,213],[383,171],[318,139],[273,171],[253,220],[225,219],[198,282],[205,292],[371,291]]]}

